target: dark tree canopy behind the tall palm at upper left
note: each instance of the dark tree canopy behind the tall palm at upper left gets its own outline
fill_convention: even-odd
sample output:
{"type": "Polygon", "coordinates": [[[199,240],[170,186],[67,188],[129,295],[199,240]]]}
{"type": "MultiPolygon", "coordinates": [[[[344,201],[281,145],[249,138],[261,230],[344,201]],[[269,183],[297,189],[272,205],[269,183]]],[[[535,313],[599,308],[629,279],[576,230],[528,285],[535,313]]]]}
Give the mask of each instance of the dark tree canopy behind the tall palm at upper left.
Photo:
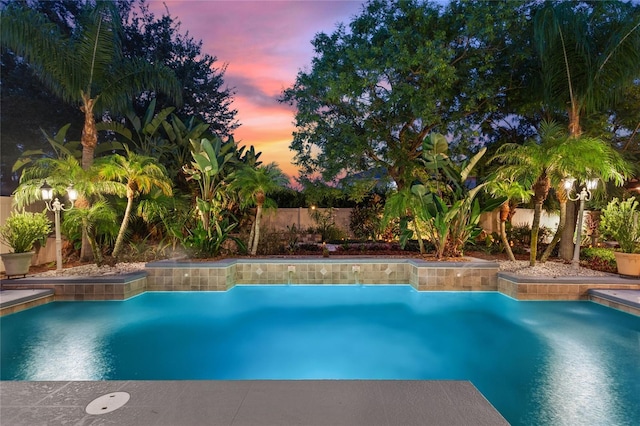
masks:
{"type": "MultiPolygon", "coordinates": [[[[117,43],[112,44],[114,54],[129,63],[163,66],[177,78],[184,100],[182,106],[176,110],[181,118],[186,121],[197,115],[219,134],[229,134],[238,126],[235,120],[236,111],[230,108],[233,91],[224,87],[225,67],[215,68],[215,57],[202,53],[201,43],[190,38],[188,33],[180,33],[179,25],[173,18],[167,14],[156,19],[148,12],[144,0],[98,3],[102,6],[108,3],[117,6],[117,11],[114,11],[117,13],[112,16],[118,16],[119,22],[110,23],[121,30],[119,37],[115,39],[117,43]]],[[[16,0],[9,6],[20,6],[37,14],[58,40],[74,40],[82,33],[83,28],[87,28],[81,24],[86,12],[94,10],[98,3],[95,0],[16,0]]],[[[50,49],[51,56],[55,56],[55,51],[56,49],[50,49]]],[[[64,59],[71,56],[73,55],[66,55],[64,59]]],[[[11,167],[20,154],[29,150],[50,151],[50,146],[40,129],[53,135],[65,124],[72,123],[67,136],[70,140],[79,140],[84,115],[78,111],[75,101],[69,98],[72,103],[65,103],[61,98],[67,98],[54,92],[51,85],[47,84],[48,81],[43,82],[36,78],[34,72],[38,69],[34,68],[34,64],[25,61],[24,56],[16,55],[6,44],[3,45],[1,60],[3,112],[0,120],[0,174],[2,194],[9,195],[17,185],[17,176],[11,173],[11,167]]],[[[70,60],[67,62],[69,65],[75,63],[70,60]]],[[[77,77],[84,75],[90,68],[87,67],[82,73],[63,75],[77,77]]],[[[123,74],[114,69],[107,70],[107,77],[123,74]]],[[[98,77],[102,83],[106,82],[101,75],[94,74],[94,83],[98,77]]],[[[123,82],[118,82],[111,87],[122,89],[124,86],[123,82]]],[[[83,89],[87,91],[86,86],[83,89]]],[[[100,95],[97,102],[105,106],[98,110],[105,111],[104,114],[113,119],[118,117],[119,110],[131,105],[137,105],[141,108],[140,111],[144,111],[151,97],[157,97],[162,107],[174,105],[174,102],[161,91],[137,92],[120,98],[119,105],[116,105],[112,102],[113,97],[109,99],[109,93],[105,89],[108,87],[104,84],[100,88],[92,87],[92,91],[100,95]],[[95,92],[97,89],[99,92],[95,92]],[[122,108],[117,108],[118,106],[122,108]]],[[[97,137],[98,142],[104,138],[100,134],[97,137]]]]}

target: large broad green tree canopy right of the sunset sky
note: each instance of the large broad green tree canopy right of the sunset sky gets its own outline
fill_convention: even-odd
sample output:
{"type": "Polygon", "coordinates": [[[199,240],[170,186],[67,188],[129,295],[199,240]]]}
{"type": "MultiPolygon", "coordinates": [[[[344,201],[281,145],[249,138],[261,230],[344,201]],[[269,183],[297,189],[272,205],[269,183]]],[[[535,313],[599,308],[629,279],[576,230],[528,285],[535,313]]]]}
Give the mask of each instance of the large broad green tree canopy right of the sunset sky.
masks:
{"type": "Polygon", "coordinates": [[[523,60],[520,19],[511,3],[371,0],[348,27],[318,34],[311,69],[282,97],[297,107],[291,149],[303,173],[379,167],[403,187],[430,132],[468,147],[522,84],[510,77],[523,60]]]}

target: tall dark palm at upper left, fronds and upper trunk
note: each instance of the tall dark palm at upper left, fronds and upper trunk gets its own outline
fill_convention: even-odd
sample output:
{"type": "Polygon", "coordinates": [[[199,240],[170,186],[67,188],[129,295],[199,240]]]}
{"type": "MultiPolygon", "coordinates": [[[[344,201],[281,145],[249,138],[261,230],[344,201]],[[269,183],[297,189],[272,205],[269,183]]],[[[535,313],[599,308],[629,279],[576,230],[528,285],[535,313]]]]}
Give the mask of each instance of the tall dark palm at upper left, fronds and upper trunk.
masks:
{"type": "Polygon", "coordinates": [[[120,49],[121,17],[114,2],[87,3],[75,32],[63,33],[47,16],[17,3],[0,17],[0,42],[13,50],[56,96],[84,113],[82,167],[93,163],[98,143],[95,116],[127,111],[144,90],[181,102],[178,79],[169,68],[125,58],[120,49]]]}

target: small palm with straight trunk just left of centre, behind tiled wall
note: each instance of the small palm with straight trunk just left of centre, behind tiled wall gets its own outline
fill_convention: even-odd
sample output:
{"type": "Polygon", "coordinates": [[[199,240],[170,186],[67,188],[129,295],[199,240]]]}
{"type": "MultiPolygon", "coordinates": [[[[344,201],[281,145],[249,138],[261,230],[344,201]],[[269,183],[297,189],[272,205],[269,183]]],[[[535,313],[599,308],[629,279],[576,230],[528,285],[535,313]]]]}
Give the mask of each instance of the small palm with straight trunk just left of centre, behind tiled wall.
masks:
{"type": "Polygon", "coordinates": [[[260,218],[267,194],[282,189],[288,180],[275,163],[260,167],[245,166],[234,173],[231,188],[238,191],[245,205],[256,206],[256,216],[251,227],[247,250],[255,256],[260,241],[260,218]]]}

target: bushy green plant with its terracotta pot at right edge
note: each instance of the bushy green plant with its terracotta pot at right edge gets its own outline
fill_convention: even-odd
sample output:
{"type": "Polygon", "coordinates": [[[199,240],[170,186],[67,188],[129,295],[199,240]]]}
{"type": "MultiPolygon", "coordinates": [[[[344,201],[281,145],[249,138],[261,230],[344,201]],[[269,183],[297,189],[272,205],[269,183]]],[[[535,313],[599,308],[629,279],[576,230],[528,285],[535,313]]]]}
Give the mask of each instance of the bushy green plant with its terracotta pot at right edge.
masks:
{"type": "Polygon", "coordinates": [[[602,210],[600,232],[620,245],[615,252],[620,275],[640,277],[640,209],[635,197],[625,201],[614,198],[602,210]]]}

